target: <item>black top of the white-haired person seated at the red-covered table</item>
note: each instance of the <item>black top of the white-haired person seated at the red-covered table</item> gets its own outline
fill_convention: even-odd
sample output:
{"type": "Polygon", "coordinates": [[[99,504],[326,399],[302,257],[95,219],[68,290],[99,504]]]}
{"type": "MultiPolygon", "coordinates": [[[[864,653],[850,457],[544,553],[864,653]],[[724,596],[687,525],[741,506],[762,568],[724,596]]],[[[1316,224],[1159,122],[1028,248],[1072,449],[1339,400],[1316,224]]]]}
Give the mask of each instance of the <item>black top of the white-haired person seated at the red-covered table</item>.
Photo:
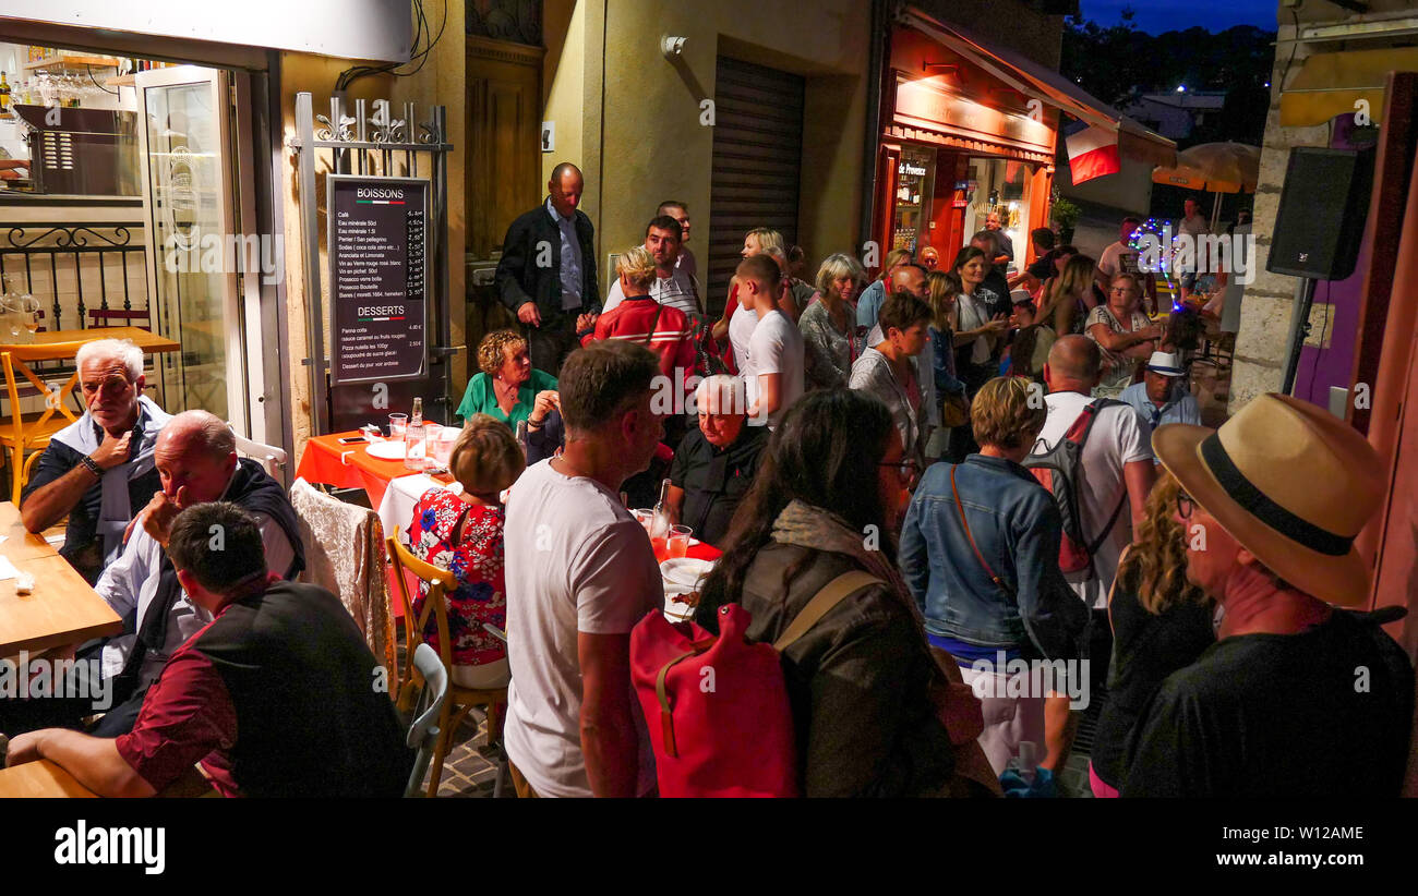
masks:
{"type": "Polygon", "coordinates": [[[693,529],[700,542],[720,546],[733,512],[753,485],[767,435],[767,427],[744,425],[739,438],[719,451],[695,427],[679,444],[669,482],[685,489],[679,522],[693,529]]]}

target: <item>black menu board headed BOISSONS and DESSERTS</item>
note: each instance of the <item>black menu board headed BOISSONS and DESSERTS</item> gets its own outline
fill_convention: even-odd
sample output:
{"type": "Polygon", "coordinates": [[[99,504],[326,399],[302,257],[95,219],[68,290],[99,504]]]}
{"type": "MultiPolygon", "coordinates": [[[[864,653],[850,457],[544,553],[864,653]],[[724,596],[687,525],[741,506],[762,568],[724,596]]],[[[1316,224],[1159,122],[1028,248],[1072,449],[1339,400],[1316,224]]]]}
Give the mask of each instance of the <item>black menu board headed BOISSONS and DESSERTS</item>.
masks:
{"type": "Polygon", "coordinates": [[[428,181],[329,174],[330,381],[424,376],[428,181]]]}

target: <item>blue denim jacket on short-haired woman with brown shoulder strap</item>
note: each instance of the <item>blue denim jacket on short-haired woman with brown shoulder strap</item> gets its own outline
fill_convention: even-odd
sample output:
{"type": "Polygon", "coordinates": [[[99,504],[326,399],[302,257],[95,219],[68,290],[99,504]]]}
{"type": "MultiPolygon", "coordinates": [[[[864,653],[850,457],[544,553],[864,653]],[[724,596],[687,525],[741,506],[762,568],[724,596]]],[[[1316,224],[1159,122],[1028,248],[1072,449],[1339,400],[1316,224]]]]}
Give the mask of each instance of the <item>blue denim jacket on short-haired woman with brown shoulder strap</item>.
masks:
{"type": "Polygon", "coordinates": [[[1025,648],[1073,659],[1088,608],[1059,571],[1062,522],[1054,498],[1022,466],[971,454],[956,472],[970,533],[994,573],[984,571],[950,489],[950,464],[926,469],[906,510],[900,567],[926,617],[926,631],[968,644],[1025,648]]]}

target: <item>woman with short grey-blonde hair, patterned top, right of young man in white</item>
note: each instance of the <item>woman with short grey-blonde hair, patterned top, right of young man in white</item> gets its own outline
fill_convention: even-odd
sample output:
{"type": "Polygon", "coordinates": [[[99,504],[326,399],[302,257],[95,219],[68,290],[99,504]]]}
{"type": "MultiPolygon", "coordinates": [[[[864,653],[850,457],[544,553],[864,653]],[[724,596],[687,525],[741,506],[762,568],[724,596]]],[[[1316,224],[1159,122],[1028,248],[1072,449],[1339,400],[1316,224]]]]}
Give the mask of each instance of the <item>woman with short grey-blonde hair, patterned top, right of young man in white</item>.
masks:
{"type": "Polygon", "coordinates": [[[864,347],[856,335],[855,299],[865,282],[862,265],[842,252],[828,255],[817,269],[817,301],[798,318],[808,388],[847,386],[864,347]]]}

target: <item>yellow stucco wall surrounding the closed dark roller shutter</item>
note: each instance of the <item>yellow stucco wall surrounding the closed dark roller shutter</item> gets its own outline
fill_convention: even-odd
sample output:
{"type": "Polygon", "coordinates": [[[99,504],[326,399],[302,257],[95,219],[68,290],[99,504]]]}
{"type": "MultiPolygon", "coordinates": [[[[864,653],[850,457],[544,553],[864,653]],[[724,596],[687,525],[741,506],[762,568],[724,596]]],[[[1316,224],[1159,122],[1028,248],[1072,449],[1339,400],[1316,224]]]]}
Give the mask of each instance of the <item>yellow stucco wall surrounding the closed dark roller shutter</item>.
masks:
{"type": "Polygon", "coordinates": [[[603,288],[607,254],[638,244],[664,198],[689,203],[703,265],[713,129],[699,103],[713,95],[720,52],[807,78],[798,241],[811,269],[858,251],[869,27],[868,4],[851,0],[821,0],[811,14],[754,0],[550,0],[543,118],[556,122],[557,152],[543,156],[543,174],[563,160],[584,170],[603,288]],[[675,62],[659,52],[665,34],[688,38],[675,62]]]}

